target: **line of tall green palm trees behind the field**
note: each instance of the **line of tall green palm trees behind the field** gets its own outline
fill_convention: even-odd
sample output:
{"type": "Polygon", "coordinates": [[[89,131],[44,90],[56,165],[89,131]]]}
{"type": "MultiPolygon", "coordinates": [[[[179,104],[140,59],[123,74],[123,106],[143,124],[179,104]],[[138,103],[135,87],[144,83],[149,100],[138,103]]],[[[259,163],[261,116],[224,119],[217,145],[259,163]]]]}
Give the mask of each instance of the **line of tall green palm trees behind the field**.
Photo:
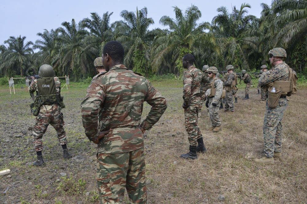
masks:
{"type": "Polygon", "coordinates": [[[63,22],[61,27],[37,33],[35,43],[26,37],[10,36],[0,46],[0,76],[23,77],[38,73],[49,64],[57,76],[70,75],[74,80],[95,75],[93,61],[101,56],[103,46],[117,40],[125,48],[127,68],[145,76],[183,73],[182,57],[191,53],[195,65],[216,66],[224,70],[229,64],[236,71],[254,71],[266,64],[274,47],[287,51],[286,63],[305,74],[307,59],[307,0],[275,0],[261,4],[261,17],[248,15],[251,6],[243,3],[229,11],[217,9],[212,22],[198,22],[201,11],[191,5],[185,11],[173,7],[175,19],[162,16],[155,28],[147,8],[135,12],[123,10],[122,20],[110,22],[113,12],[91,13],[76,23],[63,22]]]}

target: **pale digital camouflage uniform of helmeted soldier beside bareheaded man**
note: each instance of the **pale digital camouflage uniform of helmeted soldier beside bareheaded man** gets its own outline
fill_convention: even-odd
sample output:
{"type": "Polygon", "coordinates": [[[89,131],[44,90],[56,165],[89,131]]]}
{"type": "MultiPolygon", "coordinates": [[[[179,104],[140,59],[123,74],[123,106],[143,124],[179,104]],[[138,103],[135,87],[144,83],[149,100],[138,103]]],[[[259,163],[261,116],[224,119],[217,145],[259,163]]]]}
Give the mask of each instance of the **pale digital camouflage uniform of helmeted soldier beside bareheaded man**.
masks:
{"type": "Polygon", "coordinates": [[[213,127],[217,127],[221,125],[221,121],[219,118],[220,105],[223,101],[223,82],[217,77],[214,78],[210,84],[209,88],[216,88],[215,96],[207,97],[206,100],[209,102],[209,114],[213,127]],[[212,103],[215,103],[216,106],[212,106],[212,103]]]}

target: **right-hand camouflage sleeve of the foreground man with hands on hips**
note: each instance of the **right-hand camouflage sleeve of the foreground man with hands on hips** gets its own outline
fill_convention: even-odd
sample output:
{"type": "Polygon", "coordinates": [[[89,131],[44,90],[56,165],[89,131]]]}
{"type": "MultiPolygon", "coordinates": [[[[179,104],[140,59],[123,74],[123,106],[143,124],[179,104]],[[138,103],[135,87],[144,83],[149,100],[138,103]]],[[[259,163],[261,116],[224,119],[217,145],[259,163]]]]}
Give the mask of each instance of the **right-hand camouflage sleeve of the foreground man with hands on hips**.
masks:
{"type": "Polygon", "coordinates": [[[151,82],[149,82],[148,87],[144,101],[152,107],[145,120],[140,124],[140,127],[144,130],[150,130],[152,126],[159,121],[167,108],[165,98],[155,87],[152,86],[151,82]]]}

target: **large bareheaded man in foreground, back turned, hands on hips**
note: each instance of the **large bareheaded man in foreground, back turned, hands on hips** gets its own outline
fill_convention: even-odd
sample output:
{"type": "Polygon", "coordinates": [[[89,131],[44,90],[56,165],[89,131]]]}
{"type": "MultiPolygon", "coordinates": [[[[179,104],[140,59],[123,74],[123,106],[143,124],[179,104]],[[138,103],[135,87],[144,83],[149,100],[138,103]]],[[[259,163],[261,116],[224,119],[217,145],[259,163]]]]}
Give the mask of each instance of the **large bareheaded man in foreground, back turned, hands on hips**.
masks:
{"type": "Polygon", "coordinates": [[[147,203],[142,135],[159,121],[167,103],[150,81],[123,65],[119,42],[108,42],[102,57],[107,72],[91,81],[81,103],[85,134],[98,144],[100,202],[122,203],[126,188],[130,203],[147,203]],[[144,101],[152,108],[141,121],[144,101]]]}

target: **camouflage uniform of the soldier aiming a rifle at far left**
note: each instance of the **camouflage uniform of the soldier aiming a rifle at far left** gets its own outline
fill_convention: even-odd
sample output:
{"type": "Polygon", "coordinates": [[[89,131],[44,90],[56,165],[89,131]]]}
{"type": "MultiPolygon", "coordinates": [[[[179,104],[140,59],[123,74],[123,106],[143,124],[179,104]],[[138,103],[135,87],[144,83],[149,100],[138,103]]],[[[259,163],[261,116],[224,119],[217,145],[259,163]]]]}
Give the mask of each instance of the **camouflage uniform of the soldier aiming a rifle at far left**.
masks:
{"type": "MultiPolygon", "coordinates": [[[[56,85],[56,92],[60,93],[61,82],[59,78],[54,77],[54,82],[56,85]]],[[[28,89],[30,93],[38,91],[36,79],[30,84],[28,89]]],[[[35,119],[33,128],[34,148],[37,152],[42,151],[43,149],[42,137],[45,134],[49,124],[51,124],[56,130],[60,145],[67,144],[66,134],[63,127],[64,121],[61,107],[58,104],[42,105],[40,112],[35,119]]]]}

